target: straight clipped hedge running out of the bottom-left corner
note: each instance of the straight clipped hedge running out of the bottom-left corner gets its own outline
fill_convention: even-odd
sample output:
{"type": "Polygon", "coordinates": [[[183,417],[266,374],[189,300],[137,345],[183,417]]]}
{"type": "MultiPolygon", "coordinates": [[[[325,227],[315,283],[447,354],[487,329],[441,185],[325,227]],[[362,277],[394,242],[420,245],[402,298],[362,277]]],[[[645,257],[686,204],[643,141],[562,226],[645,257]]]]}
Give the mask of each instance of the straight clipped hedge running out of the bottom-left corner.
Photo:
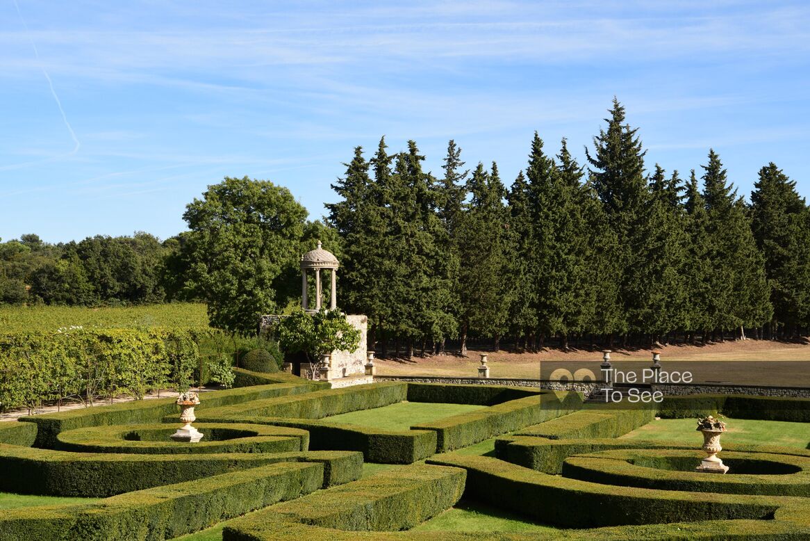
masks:
{"type": "Polygon", "coordinates": [[[87,505],[6,510],[0,539],[169,539],[318,490],[323,466],[283,462],[129,492],[87,505]]]}

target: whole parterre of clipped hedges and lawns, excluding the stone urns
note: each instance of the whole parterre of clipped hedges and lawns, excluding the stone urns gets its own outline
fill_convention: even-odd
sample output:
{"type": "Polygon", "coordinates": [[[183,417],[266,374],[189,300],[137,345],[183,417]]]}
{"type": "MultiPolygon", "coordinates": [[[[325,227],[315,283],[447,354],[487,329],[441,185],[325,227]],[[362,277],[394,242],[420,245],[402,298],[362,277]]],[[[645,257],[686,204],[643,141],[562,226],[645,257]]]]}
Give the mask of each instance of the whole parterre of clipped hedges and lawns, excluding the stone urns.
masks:
{"type": "Polygon", "coordinates": [[[0,491],[31,495],[0,498],[0,539],[810,539],[807,400],[241,381],[203,396],[200,444],[166,439],[171,400],[0,424],[0,491]],[[718,412],[731,472],[699,474],[686,419],[718,412]]]}

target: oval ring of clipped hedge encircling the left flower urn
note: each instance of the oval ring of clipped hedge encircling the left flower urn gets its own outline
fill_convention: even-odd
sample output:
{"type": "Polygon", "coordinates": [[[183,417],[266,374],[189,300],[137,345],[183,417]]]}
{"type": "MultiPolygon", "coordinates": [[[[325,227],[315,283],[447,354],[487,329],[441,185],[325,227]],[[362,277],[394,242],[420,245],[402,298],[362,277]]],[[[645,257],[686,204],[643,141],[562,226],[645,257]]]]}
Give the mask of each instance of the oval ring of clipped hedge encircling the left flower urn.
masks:
{"type": "Polygon", "coordinates": [[[79,453],[289,453],[309,449],[309,432],[261,424],[197,424],[203,440],[197,443],[169,439],[177,426],[141,424],[122,427],[87,427],[60,432],[58,449],[79,453]]]}

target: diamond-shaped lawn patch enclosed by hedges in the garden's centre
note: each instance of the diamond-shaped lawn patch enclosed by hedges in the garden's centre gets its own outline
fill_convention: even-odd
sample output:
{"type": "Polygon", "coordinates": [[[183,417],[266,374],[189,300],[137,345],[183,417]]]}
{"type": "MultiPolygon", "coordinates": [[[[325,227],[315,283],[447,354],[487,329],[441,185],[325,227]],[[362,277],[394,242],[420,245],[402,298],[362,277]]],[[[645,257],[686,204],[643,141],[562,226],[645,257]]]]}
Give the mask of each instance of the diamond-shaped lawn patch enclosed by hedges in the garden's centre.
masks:
{"type": "Polygon", "coordinates": [[[325,423],[359,424],[363,427],[382,430],[408,430],[415,424],[427,423],[485,408],[467,404],[434,404],[428,402],[398,402],[373,410],[352,411],[347,414],[332,415],[322,419],[325,423]]]}

